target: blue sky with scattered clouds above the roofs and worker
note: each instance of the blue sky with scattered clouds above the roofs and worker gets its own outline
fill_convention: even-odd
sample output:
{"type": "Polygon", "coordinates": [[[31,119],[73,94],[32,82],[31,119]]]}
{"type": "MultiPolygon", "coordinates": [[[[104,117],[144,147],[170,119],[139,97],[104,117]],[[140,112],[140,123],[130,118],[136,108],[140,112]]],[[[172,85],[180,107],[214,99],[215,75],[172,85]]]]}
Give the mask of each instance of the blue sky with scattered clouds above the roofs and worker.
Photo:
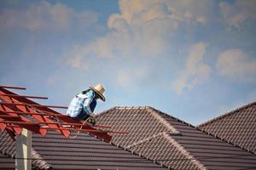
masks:
{"type": "Polygon", "coordinates": [[[256,100],[255,8],[254,0],[1,0],[0,84],[67,106],[102,83],[96,113],[147,105],[198,125],[256,100]]]}

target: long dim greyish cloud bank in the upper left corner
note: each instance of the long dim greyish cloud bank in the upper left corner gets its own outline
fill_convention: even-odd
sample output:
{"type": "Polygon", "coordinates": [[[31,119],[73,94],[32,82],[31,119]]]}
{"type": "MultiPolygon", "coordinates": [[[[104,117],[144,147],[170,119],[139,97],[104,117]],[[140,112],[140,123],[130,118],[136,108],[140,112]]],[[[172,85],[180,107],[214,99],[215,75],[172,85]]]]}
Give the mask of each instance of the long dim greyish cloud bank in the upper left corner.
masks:
{"type": "Polygon", "coordinates": [[[26,28],[30,31],[62,31],[77,27],[91,26],[97,20],[93,12],[76,12],[66,5],[47,1],[32,4],[26,9],[3,9],[0,13],[1,27],[26,28]]]}

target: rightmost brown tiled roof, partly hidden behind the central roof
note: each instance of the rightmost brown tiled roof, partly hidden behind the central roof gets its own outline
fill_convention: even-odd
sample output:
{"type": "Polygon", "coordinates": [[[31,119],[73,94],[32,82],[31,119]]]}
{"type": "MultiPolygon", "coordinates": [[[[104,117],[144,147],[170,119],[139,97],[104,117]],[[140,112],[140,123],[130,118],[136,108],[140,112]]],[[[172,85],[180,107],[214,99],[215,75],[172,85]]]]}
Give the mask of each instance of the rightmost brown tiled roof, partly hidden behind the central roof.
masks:
{"type": "Polygon", "coordinates": [[[256,154],[256,102],[218,116],[198,127],[256,154]]]}

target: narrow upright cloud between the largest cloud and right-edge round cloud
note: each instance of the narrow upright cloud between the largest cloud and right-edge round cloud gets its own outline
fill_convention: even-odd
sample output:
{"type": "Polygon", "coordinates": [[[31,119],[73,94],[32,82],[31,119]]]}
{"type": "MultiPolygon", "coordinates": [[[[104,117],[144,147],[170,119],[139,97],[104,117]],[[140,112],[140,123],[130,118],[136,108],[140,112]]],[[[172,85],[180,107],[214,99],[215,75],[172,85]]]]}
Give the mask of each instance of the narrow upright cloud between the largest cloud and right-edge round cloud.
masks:
{"type": "Polygon", "coordinates": [[[205,52],[206,44],[204,42],[195,43],[191,46],[185,68],[173,82],[173,88],[177,94],[183,94],[184,89],[190,90],[207,81],[210,67],[202,60],[205,52]]]}

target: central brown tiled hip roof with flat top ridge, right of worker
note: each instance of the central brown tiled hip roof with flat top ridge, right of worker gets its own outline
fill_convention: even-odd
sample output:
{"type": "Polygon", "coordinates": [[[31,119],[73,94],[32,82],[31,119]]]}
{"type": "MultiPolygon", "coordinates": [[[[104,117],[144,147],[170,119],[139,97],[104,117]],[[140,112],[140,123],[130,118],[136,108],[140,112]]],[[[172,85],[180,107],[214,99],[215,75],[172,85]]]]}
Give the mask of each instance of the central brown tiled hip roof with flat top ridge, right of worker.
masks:
{"type": "Polygon", "coordinates": [[[173,169],[256,168],[256,156],[151,107],[114,107],[96,118],[111,129],[112,143],[173,169]]]}

